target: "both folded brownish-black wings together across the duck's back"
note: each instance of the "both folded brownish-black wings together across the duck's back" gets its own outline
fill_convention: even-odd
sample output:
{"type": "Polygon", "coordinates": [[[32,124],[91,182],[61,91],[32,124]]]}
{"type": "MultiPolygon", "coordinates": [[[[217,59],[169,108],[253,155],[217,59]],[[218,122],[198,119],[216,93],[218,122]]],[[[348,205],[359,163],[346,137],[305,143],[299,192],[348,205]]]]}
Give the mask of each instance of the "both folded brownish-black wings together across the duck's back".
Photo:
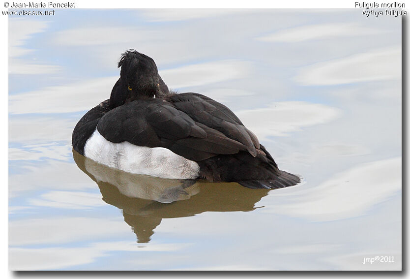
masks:
{"type": "Polygon", "coordinates": [[[190,160],[248,151],[259,142],[224,105],[196,93],[136,100],[113,109],[97,125],[107,140],[164,147],[190,160]]]}

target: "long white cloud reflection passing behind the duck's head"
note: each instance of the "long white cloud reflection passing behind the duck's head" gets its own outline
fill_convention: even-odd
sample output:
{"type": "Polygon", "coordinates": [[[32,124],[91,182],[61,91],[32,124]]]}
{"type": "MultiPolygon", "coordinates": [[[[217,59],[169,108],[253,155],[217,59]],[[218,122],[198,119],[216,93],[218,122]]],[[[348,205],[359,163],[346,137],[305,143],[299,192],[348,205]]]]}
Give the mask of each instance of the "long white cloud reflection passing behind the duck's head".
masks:
{"type": "MultiPolygon", "coordinates": [[[[249,73],[246,62],[227,60],[192,64],[160,71],[170,88],[177,89],[237,79],[249,73]]],[[[9,96],[9,113],[67,113],[88,111],[110,98],[118,76],[94,78],[9,96]]]]}

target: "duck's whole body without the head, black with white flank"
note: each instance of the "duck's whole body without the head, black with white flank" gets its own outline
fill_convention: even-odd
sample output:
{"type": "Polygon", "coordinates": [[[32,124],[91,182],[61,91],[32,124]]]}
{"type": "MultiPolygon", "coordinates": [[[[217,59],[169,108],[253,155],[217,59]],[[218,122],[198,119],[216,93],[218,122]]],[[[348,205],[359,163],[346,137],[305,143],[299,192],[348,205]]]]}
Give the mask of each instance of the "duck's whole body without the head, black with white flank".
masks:
{"type": "Polygon", "coordinates": [[[298,177],[278,169],[229,108],[197,93],[138,99],[111,110],[105,101],[77,124],[73,147],[103,164],[159,177],[200,177],[252,188],[299,182],[298,177]],[[84,136],[75,136],[82,132],[84,136]],[[102,144],[105,141],[109,149],[102,144]],[[146,167],[136,167],[132,160],[145,162],[146,167]]]}

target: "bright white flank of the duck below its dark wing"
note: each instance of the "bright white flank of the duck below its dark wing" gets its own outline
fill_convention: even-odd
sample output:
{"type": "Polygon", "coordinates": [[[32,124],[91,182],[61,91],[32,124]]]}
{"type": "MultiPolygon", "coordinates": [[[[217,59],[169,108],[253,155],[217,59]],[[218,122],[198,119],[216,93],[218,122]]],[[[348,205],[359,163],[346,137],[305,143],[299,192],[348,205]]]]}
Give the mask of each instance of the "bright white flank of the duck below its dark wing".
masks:
{"type": "Polygon", "coordinates": [[[100,164],[129,173],[161,178],[195,179],[199,165],[162,147],[149,148],[129,142],[112,143],[97,129],[84,147],[84,155],[100,164]]]}

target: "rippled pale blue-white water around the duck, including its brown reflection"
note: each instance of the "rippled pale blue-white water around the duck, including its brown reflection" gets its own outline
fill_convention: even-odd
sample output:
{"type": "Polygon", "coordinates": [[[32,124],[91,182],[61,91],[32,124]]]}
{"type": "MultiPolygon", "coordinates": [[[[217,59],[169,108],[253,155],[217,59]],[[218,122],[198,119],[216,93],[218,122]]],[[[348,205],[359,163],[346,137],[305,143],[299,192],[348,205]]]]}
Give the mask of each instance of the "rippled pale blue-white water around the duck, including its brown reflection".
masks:
{"type": "Polygon", "coordinates": [[[401,19],[58,10],[9,19],[13,270],[400,270],[401,19]],[[229,106],[305,183],[181,186],[72,151],[126,49],[229,106]],[[394,262],[363,263],[394,257],[394,262]]]}

